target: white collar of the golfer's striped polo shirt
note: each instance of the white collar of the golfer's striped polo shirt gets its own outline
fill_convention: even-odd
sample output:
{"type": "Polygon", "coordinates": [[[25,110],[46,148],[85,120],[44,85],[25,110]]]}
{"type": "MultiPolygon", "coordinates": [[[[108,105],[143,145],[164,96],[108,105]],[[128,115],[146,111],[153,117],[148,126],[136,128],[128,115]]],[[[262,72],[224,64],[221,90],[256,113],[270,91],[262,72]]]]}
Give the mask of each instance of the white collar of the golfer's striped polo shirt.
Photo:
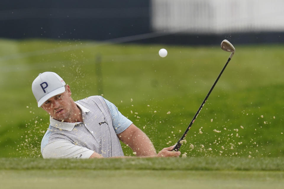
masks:
{"type": "MultiPolygon", "coordinates": [[[[81,109],[82,114],[90,111],[88,108],[85,108],[84,106],[80,105],[78,102],[75,102],[75,103],[81,109]]],[[[53,119],[51,116],[49,118],[49,121],[50,121],[51,126],[55,128],[59,128],[60,130],[67,130],[67,131],[72,131],[76,125],[82,123],[82,122],[75,122],[75,123],[62,122],[62,121],[53,119]]]]}

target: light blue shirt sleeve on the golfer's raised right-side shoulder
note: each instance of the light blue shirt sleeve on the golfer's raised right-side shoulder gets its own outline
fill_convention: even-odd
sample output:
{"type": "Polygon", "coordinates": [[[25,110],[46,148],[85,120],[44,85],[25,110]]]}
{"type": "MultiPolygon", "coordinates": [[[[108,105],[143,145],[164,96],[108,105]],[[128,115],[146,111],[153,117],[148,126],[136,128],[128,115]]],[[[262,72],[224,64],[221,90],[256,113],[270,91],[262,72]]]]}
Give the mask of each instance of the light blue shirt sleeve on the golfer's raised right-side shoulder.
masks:
{"type": "Polygon", "coordinates": [[[112,123],[113,123],[112,126],[114,128],[115,133],[116,134],[122,133],[132,124],[132,121],[130,121],[128,118],[122,115],[113,103],[109,102],[106,99],[104,99],[104,101],[106,102],[106,105],[110,110],[110,114],[112,116],[112,123]]]}

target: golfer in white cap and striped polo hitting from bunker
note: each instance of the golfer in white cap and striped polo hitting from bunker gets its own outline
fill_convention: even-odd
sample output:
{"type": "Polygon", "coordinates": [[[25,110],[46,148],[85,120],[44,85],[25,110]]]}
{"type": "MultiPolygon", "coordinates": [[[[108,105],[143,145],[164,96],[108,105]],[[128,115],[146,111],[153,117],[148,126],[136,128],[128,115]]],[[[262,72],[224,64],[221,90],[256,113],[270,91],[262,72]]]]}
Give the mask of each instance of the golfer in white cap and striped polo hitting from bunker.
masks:
{"type": "Polygon", "coordinates": [[[158,154],[148,138],[117,107],[101,96],[76,102],[71,89],[54,72],[39,74],[32,91],[38,107],[50,115],[50,125],[41,141],[43,158],[124,157],[120,141],[138,157],[175,157],[174,146],[158,154]]]}

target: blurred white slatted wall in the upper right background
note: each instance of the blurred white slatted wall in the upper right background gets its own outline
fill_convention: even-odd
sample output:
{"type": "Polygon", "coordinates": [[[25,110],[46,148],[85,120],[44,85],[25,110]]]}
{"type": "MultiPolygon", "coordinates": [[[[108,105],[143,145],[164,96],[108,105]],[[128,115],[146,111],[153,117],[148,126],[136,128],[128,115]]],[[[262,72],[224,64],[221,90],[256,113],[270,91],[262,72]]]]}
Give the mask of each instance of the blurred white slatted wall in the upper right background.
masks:
{"type": "Polygon", "coordinates": [[[284,0],[152,0],[154,31],[284,31],[284,0]]]}

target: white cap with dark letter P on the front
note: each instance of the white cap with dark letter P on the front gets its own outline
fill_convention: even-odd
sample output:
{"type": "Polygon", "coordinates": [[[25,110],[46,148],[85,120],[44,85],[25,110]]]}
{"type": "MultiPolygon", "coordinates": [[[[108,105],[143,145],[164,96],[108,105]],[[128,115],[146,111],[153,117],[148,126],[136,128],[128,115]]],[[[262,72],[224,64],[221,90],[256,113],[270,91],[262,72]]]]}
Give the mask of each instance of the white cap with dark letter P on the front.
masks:
{"type": "Polygon", "coordinates": [[[32,84],[33,95],[38,102],[38,107],[51,97],[65,91],[65,82],[54,72],[38,74],[32,84]]]}

